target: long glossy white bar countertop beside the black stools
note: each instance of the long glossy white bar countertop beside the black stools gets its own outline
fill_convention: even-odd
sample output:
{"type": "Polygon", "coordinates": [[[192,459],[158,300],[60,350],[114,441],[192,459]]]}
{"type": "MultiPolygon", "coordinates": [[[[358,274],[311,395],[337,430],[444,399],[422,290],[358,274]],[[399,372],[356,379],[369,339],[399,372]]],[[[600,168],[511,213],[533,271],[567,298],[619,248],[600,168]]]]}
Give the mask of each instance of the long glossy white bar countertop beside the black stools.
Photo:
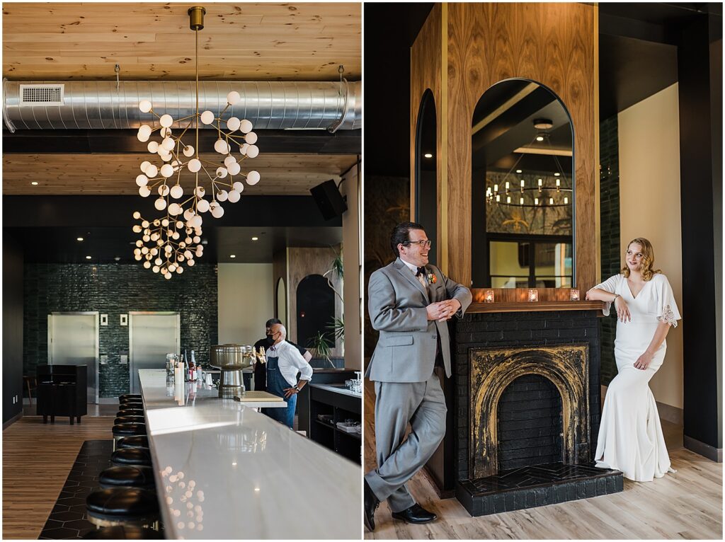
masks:
{"type": "Polygon", "coordinates": [[[215,388],[138,376],[166,538],[362,538],[360,465],[215,388]]]}

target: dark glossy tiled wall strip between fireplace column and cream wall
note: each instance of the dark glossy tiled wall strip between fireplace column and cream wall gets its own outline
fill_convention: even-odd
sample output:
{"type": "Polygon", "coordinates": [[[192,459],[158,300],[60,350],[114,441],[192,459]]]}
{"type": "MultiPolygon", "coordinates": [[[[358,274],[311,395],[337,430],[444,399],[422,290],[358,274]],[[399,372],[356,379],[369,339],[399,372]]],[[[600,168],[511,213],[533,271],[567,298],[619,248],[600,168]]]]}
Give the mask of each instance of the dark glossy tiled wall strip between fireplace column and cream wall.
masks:
{"type": "MultiPolygon", "coordinates": [[[[617,275],[621,268],[619,246],[619,140],[617,116],[600,122],[600,223],[602,245],[602,280],[617,275]]],[[[616,316],[600,318],[602,328],[602,385],[609,385],[617,375],[614,361],[616,316]]]]}

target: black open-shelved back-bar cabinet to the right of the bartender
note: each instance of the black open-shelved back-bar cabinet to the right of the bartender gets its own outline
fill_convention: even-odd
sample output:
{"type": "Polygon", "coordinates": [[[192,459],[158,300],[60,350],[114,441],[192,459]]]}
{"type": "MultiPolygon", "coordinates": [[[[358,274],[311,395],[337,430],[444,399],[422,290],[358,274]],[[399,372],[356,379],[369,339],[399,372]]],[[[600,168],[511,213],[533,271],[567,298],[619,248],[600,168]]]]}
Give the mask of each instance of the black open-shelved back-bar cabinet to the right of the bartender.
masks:
{"type": "MultiPolygon", "coordinates": [[[[363,399],[310,384],[310,438],[351,461],[362,462],[362,435],[338,423],[360,422],[363,399]]],[[[344,386],[340,386],[344,389],[344,386]]]]}

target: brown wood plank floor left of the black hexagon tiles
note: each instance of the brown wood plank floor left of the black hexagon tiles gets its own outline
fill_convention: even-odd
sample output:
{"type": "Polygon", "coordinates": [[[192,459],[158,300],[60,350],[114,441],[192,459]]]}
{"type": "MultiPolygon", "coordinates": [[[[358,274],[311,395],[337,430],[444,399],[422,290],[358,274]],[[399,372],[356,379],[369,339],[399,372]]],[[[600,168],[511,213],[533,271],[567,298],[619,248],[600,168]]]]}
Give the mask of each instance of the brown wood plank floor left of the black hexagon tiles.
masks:
{"type": "Polygon", "coordinates": [[[2,432],[2,538],[37,539],[83,441],[112,438],[113,417],[80,425],[25,416],[2,432]]]}

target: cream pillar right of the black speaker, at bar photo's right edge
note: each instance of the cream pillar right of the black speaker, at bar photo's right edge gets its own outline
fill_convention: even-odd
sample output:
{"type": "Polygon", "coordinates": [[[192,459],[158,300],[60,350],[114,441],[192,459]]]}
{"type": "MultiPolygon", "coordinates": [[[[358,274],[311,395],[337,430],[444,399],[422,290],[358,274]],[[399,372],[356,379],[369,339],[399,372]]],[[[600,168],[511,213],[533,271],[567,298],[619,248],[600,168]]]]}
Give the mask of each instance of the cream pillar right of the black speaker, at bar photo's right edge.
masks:
{"type": "Polygon", "coordinates": [[[360,178],[357,167],[344,176],[340,192],[347,196],[347,211],[342,215],[342,264],[345,315],[345,368],[363,368],[363,328],[361,318],[360,288],[363,270],[360,267],[360,246],[363,234],[360,228],[360,178]]]}

